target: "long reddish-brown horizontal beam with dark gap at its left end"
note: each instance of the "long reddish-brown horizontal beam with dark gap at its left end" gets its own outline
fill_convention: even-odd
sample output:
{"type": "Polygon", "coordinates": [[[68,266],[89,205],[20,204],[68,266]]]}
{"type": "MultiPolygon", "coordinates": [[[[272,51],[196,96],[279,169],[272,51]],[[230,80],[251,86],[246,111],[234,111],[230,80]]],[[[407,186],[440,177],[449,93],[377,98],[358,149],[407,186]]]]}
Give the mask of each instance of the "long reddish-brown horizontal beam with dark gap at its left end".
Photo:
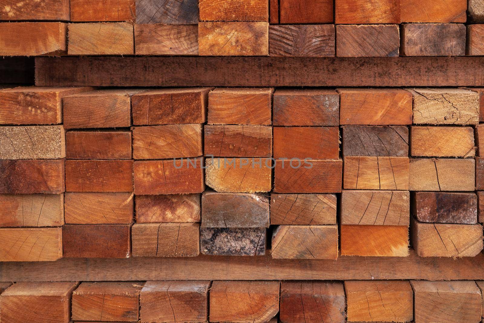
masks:
{"type": "Polygon", "coordinates": [[[36,84],[42,86],[484,86],[483,57],[35,59],[36,84]]]}

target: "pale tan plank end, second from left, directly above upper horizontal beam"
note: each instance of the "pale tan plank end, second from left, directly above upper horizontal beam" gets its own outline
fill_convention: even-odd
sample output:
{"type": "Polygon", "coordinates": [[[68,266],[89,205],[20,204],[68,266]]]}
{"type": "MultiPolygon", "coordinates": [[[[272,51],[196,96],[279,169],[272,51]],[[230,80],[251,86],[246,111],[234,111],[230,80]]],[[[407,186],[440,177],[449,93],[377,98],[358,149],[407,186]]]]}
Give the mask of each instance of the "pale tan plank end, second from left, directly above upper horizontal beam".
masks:
{"type": "Polygon", "coordinates": [[[130,23],[69,24],[69,55],[133,55],[135,37],[130,23]]]}

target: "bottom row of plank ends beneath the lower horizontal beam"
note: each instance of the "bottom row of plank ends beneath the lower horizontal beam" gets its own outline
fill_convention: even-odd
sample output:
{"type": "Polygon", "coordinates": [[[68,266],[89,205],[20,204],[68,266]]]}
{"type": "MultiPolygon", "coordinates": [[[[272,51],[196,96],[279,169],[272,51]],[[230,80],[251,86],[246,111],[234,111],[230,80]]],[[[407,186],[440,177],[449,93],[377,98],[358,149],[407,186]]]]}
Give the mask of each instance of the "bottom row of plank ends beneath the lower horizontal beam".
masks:
{"type": "Polygon", "coordinates": [[[0,320],[479,323],[483,288],[484,281],[0,282],[0,320]]]}

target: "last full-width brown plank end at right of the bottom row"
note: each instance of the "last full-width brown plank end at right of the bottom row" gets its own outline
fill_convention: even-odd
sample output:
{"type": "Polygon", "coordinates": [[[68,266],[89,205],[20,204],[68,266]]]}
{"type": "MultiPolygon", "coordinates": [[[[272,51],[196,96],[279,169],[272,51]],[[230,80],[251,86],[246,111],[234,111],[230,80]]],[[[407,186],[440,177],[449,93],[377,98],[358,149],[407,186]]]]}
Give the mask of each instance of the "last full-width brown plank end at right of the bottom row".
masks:
{"type": "Polygon", "coordinates": [[[474,281],[411,281],[415,322],[479,322],[481,292],[474,281]]]}

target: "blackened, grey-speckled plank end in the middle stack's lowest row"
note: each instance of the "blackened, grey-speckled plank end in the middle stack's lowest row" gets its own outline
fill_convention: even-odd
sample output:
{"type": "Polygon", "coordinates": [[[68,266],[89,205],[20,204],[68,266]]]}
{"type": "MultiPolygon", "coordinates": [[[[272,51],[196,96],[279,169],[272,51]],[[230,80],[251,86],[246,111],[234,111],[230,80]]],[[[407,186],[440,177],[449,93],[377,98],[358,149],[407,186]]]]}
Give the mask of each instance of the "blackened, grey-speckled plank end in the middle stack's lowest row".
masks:
{"type": "Polygon", "coordinates": [[[215,256],[263,256],[266,228],[200,228],[200,253],[215,256]]]}

